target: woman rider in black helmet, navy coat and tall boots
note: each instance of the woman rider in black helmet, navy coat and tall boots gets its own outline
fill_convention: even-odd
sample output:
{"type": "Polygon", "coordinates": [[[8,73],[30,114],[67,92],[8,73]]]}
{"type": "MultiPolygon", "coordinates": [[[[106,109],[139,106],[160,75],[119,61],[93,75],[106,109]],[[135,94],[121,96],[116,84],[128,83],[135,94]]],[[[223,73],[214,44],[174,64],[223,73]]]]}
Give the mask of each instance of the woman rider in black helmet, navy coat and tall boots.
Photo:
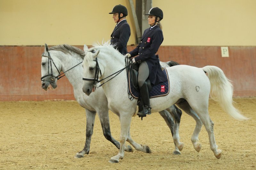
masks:
{"type": "Polygon", "coordinates": [[[163,19],[164,14],[160,8],[154,7],[151,8],[148,14],[145,15],[148,15],[148,24],[150,25],[150,28],[144,31],[139,45],[125,55],[128,58],[133,57],[133,63],[140,63],[138,84],[140,87],[141,100],[144,105],[144,110],[139,112],[139,115],[151,114],[146,79],[149,78],[151,84],[153,85],[167,81],[167,78],[161,70],[158,55],[156,55],[158,48],[164,40],[160,24],[160,20],[163,19]]]}

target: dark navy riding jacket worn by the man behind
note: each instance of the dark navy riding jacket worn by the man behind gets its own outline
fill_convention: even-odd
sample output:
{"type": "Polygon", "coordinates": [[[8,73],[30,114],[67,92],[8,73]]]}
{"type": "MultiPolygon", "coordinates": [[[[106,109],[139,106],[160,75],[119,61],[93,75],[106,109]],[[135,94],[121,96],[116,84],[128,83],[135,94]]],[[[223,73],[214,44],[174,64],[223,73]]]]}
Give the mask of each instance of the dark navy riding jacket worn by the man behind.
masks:
{"type": "Polygon", "coordinates": [[[131,29],[126,20],[122,20],[111,34],[110,43],[123,55],[127,54],[127,42],[131,35],[131,29]]]}

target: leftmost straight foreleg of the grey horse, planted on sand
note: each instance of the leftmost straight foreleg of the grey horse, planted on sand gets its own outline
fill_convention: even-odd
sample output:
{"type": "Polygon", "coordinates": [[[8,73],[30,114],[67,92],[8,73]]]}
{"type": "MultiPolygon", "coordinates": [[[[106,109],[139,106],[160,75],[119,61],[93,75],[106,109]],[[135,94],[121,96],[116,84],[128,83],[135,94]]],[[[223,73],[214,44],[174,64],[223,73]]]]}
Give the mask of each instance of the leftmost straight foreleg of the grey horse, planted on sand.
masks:
{"type": "Polygon", "coordinates": [[[91,138],[93,133],[93,126],[95,121],[96,112],[86,110],[86,139],[84,149],[80,152],[77,152],[74,158],[82,158],[84,154],[88,154],[90,151],[91,138]]]}

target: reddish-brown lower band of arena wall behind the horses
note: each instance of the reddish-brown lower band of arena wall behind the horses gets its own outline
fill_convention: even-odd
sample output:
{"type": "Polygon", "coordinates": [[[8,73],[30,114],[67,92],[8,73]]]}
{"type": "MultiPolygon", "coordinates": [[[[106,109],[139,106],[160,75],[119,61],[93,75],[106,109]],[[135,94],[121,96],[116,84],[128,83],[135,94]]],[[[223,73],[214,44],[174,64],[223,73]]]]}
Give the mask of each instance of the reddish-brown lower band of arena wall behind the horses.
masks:
{"type": "MultiPolygon", "coordinates": [[[[83,49],[83,46],[76,46],[83,49]]],[[[128,51],[135,48],[129,46],[128,51]]],[[[162,46],[158,50],[161,61],[176,61],[196,67],[215,65],[233,81],[234,96],[256,96],[256,47],[228,47],[229,57],[221,57],[219,46],[162,46]]],[[[75,100],[73,87],[66,77],[58,80],[58,87],[41,88],[41,46],[0,46],[0,101],[19,100],[75,100]]]]}

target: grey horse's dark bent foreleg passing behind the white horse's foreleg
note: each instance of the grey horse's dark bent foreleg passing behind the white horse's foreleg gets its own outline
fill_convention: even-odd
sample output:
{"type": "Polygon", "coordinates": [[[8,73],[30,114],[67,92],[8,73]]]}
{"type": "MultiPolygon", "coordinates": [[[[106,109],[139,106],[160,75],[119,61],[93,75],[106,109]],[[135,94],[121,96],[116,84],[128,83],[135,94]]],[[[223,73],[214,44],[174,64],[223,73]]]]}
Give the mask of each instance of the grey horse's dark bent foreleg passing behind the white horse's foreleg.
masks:
{"type": "MultiPolygon", "coordinates": [[[[120,143],[116,141],[111,135],[110,125],[109,125],[109,116],[107,111],[99,111],[98,116],[100,119],[100,124],[102,127],[103,135],[106,139],[108,139],[112,144],[114,144],[118,149],[120,149],[120,143]]],[[[133,149],[130,145],[124,147],[124,151],[133,152],[133,149]]]]}

